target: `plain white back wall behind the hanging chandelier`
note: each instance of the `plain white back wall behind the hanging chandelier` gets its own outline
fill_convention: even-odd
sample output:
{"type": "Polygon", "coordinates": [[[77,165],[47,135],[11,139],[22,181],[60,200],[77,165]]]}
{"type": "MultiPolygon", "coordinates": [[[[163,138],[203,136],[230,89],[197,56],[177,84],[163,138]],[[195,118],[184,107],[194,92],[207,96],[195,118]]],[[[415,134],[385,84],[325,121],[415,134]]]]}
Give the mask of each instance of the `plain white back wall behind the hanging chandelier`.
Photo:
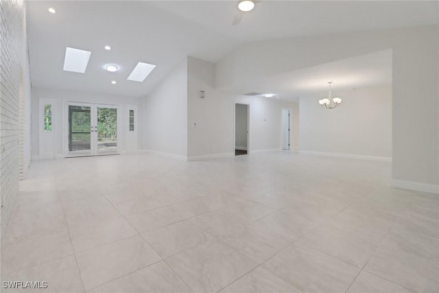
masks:
{"type": "Polygon", "coordinates": [[[333,92],[342,104],[300,98],[300,152],[392,157],[392,86],[333,92]]]}

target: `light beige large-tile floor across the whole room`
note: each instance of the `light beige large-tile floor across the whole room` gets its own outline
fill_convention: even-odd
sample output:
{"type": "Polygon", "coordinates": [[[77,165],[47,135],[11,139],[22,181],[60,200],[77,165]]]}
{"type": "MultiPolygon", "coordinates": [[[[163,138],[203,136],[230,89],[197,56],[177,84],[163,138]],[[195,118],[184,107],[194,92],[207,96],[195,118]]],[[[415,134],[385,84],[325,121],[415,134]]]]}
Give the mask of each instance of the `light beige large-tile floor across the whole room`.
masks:
{"type": "Polygon", "coordinates": [[[439,292],[439,196],[389,181],[390,163],[289,152],[35,161],[2,233],[2,281],[47,281],[37,292],[439,292]]]}

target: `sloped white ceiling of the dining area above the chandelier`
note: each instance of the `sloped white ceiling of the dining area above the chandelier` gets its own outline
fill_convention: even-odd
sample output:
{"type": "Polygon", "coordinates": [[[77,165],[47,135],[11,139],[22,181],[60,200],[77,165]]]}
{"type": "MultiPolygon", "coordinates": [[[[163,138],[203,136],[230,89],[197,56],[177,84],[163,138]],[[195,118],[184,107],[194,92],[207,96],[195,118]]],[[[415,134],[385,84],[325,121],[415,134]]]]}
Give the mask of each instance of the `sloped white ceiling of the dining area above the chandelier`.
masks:
{"type": "MultiPolygon", "coordinates": [[[[270,76],[232,91],[237,93],[274,93],[279,98],[297,102],[300,97],[320,97],[333,92],[392,84],[392,50],[377,51],[270,76]]],[[[277,97],[273,97],[276,99],[277,97]]]]}

